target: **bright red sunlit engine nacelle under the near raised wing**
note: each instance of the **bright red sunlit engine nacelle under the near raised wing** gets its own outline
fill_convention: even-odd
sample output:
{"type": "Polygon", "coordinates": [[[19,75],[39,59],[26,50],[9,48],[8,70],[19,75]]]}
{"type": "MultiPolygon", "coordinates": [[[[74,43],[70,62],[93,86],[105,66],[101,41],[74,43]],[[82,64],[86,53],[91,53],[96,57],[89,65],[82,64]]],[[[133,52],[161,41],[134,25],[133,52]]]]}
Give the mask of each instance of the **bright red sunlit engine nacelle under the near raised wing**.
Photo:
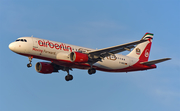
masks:
{"type": "Polygon", "coordinates": [[[86,63],[86,62],[88,62],[89,57],[87,54],[83,54],[80,52],[71,52],[70,60],[71,60],[71,62],[86,63]]]}

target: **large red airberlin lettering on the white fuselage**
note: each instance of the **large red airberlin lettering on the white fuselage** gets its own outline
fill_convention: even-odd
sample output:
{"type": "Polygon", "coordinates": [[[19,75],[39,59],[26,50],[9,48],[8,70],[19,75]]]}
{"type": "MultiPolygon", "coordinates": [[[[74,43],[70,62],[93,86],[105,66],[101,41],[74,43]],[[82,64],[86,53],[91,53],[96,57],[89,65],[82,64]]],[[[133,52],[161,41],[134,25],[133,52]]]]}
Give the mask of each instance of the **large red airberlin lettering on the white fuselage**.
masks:
{"type": "Polygon", "coordinates": [[[57,44],[57,43],[52,43],[49,41],[44,41],[44,40],[39,40],[38,41],[39,46],[43,46],[43,47],[50,47],[50,48],[55,48],[57,50],[64,50],[64,51],[71,51],[72,52],[72,48],[71,46],[66,46],[66,44],[57,44]]]}

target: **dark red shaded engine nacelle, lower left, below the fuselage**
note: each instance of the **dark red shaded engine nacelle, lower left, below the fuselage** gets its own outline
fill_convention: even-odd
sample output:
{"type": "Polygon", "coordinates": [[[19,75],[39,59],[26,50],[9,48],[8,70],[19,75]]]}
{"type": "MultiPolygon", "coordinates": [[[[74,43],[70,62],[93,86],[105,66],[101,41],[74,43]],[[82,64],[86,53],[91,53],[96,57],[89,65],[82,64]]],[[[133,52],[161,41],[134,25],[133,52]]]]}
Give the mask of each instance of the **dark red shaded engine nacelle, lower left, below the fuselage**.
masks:
{"type": "Polygon", "coordinates": [[[51,74],[54,70],[53,66],[48,62],[37,62],[35,69],[39,73],[51,74]]]}

